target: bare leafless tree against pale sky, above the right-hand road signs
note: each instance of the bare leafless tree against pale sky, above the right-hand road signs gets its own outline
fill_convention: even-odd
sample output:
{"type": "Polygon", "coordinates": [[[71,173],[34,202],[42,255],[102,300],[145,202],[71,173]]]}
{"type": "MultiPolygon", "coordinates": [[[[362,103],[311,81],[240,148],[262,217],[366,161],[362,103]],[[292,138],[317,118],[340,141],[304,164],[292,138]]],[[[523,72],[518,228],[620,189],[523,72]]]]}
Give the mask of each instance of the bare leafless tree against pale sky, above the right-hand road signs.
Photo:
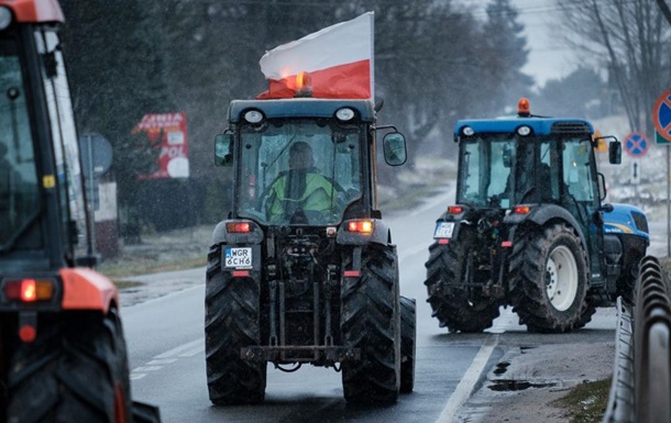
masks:
{"type": "Polygon", "coordinates": [[[569,44],[598,58],[619,91],[629,126],[647,133],[652,133],[650,108],[671,81],[671,30],[654,1],[556,2],[569,44]]]}

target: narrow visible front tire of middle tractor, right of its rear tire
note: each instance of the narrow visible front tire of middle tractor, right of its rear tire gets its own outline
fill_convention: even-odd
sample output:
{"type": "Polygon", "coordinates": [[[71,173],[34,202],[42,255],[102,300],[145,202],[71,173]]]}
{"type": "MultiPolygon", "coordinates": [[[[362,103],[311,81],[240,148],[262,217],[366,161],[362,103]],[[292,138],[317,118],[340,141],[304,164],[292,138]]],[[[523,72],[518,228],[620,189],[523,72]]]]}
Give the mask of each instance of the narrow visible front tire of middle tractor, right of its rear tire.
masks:
{"type": "Polygon", "coordinates": [[[400,393],[415,388],[416,339],[417,304],[414,298],[400,297],[400,393]]]}

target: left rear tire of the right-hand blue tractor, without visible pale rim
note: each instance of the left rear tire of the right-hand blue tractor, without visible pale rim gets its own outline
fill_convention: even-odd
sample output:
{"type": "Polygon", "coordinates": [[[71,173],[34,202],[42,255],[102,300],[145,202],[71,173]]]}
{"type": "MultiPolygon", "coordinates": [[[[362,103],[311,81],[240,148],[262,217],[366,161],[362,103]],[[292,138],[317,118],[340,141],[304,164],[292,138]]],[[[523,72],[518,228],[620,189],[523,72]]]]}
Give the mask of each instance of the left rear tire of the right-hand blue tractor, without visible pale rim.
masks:
{"type": "MultiPolygon", "coordinates": [[[[438,319],[440,327],[450,332],[479,333],[491,327],[499,315],[499,304],[490,298],[479,296],[476,291],[451,288],[468,279],[470,269],[471,236],[466,231],[460,232],[458,240],[449,244],[435,243],[429,247],[427,268],[428,302],[438,319]]],[[[472,265],[471,265],[472,266],[472,265]]]]}

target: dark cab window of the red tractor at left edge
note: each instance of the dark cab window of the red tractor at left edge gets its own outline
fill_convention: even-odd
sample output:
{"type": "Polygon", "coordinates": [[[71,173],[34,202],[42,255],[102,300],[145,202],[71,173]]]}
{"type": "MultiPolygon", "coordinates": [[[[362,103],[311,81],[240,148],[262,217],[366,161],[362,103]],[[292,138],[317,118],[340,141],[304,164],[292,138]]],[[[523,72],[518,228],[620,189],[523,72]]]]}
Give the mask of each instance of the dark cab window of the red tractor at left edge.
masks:
{"type": "MultiPolygon", "coordinates": [[[[40,188],[20,44],[0,35],[0,251],[14,247],[37,215],[40,188]]],[[[38,247],[40,237],[23,247],[38,247]]]]}

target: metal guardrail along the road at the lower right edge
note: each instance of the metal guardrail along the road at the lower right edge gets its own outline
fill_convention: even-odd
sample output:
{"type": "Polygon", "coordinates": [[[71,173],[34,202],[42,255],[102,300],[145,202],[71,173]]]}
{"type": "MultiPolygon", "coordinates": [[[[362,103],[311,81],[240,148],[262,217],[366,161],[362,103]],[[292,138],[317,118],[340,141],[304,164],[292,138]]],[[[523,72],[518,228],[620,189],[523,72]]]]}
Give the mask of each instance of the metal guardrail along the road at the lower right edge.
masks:
{"type": "Polygon", "coordinates": [[[639,265],[636,305],[617,299],[615,366],[603,423],[671,422],[671,287],[659,260],[639,265]]]}

